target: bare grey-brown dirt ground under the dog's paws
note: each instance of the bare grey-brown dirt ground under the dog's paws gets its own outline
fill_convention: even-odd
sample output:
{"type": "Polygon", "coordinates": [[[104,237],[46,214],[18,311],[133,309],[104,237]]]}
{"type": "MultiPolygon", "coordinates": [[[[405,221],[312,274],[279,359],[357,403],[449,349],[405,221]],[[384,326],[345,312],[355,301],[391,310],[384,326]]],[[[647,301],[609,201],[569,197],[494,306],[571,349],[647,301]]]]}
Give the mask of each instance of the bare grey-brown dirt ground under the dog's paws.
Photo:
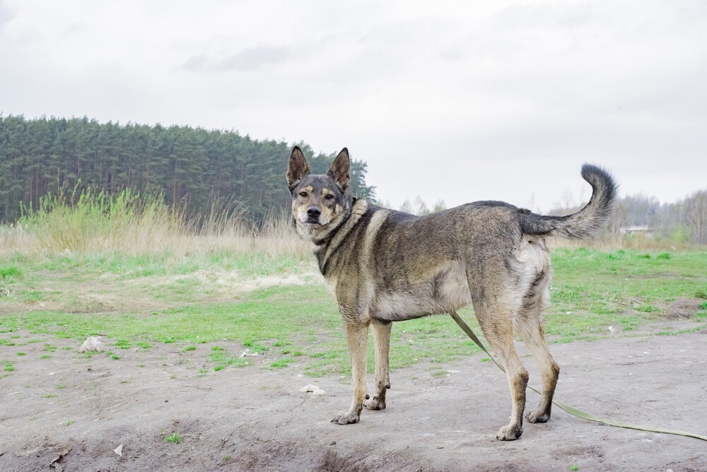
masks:
{"type": "MultiPolygon", "coordinates": [[[[608,427],[559,408],[547,424],[526,424],[518,441],[496,441],[510,399],[483,355],[392,372],[387,409],[339,426],[329,420],[349,406],[350,384],[338,375],[312,379],[302,365],[273,370],[257,358],[253,367],[214,372],[210,345],[115,350],[114,360],[87,359],[74,340],[46,342],[57,346],[51,358],[41,358],[44,342],[0,346],[0,359],[15,367],[0,371],[0,471],[707,470],[707,442],[608,427]],[[325,394],[300,392],[307,384],[325,394]],[[180,442],[165,440],[173,433],[180,442]]],[[[707,434],[707,332],[551,349],[562,366],[556,399],[707,434]]],[[[532,360],[524,362],[537,385],[532,360]]],[[[528,399],[534,405],[537,396],[528,399]]]]}

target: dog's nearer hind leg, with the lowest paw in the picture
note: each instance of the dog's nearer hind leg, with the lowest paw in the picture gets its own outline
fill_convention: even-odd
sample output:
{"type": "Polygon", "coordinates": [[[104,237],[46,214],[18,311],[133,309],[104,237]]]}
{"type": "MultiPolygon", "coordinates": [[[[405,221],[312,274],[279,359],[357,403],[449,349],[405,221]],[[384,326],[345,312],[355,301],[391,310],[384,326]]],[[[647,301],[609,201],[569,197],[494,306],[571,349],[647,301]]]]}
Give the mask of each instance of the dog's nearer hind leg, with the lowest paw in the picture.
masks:
{"type": "Polygon", "coordinates": [[[525,387],[528,382],[528,372],[520,362],[518,352],[513,345],[513,311],[508,307],[494,304],[481,307],[475,305],[474,312],[491,350],[498,355],[501,364],[506,369],[506,379],[513,404],[510,411],[510,423],[501,427],[496,439],[513,441],[523,434],[525,387]]]}

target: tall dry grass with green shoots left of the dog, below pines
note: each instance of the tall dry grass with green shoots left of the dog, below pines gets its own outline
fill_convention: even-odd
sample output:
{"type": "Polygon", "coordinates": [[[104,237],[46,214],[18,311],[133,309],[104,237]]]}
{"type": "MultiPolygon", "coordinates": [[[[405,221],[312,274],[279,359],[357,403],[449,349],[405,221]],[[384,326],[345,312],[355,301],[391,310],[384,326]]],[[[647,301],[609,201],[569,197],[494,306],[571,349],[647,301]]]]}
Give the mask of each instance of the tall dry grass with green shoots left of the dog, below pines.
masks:
{"type": "Polygon", "coordinates": [[[117,196],[84,191],[76,203],[48,196],[40,209],[15,225],[0,227],[0,254],[156,254],[209,252],[269,256],[308,252],[288,220],[271,215],[255,227],[242,212],[212,208],[200,220],[187,218],[153,197],[130,191],[117,196]]]}

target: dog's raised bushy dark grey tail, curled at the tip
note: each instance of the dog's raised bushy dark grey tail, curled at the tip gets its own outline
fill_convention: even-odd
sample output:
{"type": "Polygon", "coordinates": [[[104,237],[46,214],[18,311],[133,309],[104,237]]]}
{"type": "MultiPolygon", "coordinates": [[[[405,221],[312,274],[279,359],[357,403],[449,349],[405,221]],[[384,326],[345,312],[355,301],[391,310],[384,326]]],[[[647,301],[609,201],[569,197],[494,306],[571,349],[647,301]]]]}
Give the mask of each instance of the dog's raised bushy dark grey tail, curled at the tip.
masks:
{"type": "Polygon", "coordinates": [[[522,232],[530,236],[581,240],[592,237],[604,228],[614,215],[619,186],[609,172],[596,165],[583,165],[582,177],[592,186],[592,198],[584,208],[568,216],[525,213],[520,220],[522,232]]]}

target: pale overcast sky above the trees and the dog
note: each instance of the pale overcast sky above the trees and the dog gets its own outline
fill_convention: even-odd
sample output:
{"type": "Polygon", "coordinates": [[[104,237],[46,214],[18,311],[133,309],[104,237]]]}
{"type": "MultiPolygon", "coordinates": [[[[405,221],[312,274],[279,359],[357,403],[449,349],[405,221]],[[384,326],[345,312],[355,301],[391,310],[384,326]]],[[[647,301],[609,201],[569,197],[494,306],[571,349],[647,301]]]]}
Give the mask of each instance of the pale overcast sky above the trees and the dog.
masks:
{"type": "Polygon", "coordinates": [[[346,146],[394,208],[548,211],[585,162],[667,203],[707,189],[707,2],[0,0],[0,114],[346,146]]]}

